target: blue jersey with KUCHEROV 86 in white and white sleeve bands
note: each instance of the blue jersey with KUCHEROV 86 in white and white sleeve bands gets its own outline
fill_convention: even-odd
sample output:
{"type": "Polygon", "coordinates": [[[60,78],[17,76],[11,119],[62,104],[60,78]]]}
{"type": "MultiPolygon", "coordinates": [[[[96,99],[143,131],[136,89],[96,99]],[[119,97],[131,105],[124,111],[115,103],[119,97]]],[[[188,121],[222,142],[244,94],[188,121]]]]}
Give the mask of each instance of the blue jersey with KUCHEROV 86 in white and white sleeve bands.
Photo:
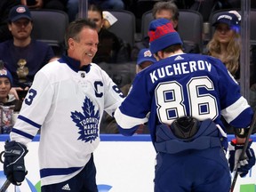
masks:
{"type": "Polygon", "coordinates": [[[148,122],[154,143],[156,125],[172,124],[181,116],[194,116],[200,121],[210,118],[227,136],[221,115],[228,124],[245,128],[251,123],[252,114],[239,85],[220,60],[178,54],[142,70],[115,117],[124,135],[132,135],[137,125],[148,122]]]}

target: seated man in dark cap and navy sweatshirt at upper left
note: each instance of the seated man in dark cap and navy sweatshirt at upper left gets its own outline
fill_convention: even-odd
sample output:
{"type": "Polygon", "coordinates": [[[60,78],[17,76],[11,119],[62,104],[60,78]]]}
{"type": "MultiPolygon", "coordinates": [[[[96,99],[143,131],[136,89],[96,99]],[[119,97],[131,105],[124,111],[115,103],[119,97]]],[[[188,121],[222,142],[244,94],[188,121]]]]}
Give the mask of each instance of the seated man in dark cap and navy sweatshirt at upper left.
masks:
{"type": "Polygon", "coordinates": [[[36,72],[54,57],[54,53],[50,45],[31,38],[33,20],[27,6],[12,7],[8,28],[12,39],[0,44],[0,60],[12,74],[13,88],[16,91],[28,89],[36,72]]]}

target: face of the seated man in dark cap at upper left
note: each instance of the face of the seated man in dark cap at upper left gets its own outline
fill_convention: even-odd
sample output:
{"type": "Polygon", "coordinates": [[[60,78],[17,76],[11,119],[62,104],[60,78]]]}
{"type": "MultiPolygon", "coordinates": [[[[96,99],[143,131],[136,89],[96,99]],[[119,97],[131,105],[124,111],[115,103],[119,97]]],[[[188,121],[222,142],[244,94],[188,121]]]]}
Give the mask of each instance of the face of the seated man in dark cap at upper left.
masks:
{"type": "Polygon", "coordinates": [[[14,38],[23,40],[30,36],[33,25],[31,20],[21,18],[11,22],[8,27],[14,38]]]}

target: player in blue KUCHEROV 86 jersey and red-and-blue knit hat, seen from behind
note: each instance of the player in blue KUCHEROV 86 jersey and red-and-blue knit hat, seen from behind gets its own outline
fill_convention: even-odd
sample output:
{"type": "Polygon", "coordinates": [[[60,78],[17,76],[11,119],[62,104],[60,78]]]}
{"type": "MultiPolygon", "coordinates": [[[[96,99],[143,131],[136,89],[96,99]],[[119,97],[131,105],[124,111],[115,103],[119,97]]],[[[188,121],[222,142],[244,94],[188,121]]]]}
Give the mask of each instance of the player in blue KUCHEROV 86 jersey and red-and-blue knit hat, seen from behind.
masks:
{"type": "Polygon", "coordinates": [[[182,52],[170,20],[153,20],[148,35],[157,61],[135,77],[132,91],[116,109],[119,131],[132,135],[148,122],[157,152],[155,192],[228,192],[230,170],[244,177],[255,164],[252,141],[244,162],[235,159],[252,122],[252,108],[220,60],[182,52]],[[220,115],[236,127],[228,160],[220,115]]]}

